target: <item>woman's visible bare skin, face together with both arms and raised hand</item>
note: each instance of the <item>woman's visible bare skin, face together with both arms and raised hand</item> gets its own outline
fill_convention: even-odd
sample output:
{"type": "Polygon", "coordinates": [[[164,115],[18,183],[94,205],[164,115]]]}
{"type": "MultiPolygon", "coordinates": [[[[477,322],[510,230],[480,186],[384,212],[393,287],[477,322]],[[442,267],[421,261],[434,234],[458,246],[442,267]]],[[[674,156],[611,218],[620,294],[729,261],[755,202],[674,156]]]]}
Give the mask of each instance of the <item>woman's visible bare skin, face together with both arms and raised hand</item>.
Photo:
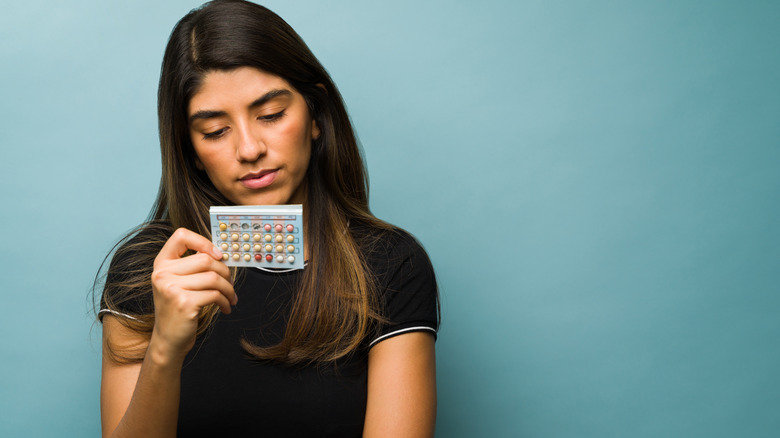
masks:
{"type": "MultiPolygon", "coordinates": [[[[236,204],[305,202],[311,141],[320,135],[303,96],[283,79],[243,67],[213,71],[189,104],[190,135],[204,170],[236,204]],[[246,176],[255,179],[247,183],[246,176]],[[255,178],[252,178],[255,177],[255,178]]],[[[238,297],[221,253],[186,229],[174,232],[154,262],[155,325],[149,340],[103,318],[104,345],[141,346],[141,364],[103,355],[103,436],[174,437],[184,357],[197,316],[217,304],[230,313],[238,297]],[[183,257],[187,250],[195,254],[183,257]]],[[[436,420],[433,336],[408,333],[374,345],[368,356],[364,436],[432,437],[436,420]]]]}

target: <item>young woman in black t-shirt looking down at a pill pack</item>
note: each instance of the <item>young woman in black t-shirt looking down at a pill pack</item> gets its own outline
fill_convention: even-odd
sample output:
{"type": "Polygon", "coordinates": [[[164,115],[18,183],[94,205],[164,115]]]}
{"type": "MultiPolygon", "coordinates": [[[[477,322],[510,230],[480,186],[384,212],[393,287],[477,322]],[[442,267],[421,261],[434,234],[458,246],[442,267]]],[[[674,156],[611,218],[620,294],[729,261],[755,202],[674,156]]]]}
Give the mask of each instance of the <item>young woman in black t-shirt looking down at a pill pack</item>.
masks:
{"type": "Polygon", "coordinates": [[[162,180],[107,272],[104,436],[432,436],[437,289],[368,208],[341,95],[290,26],[214,1],[174,28],[162,180]],[[307,265],[228,268],[212,205],[303,204],[307,265]]]}

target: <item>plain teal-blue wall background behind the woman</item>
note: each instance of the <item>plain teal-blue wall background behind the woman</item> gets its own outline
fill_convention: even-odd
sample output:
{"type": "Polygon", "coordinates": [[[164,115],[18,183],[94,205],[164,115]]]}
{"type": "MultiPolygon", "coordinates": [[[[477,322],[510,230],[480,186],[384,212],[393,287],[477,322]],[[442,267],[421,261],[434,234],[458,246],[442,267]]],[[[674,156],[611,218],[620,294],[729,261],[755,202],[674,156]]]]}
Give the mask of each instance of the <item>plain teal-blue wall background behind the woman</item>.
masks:
{"type": "MultiPolygon", "coordinates": [[[[0,436],[99,435],[88,292],[197,4],[0,0],[0,436]]],[[[266,4],[437,270],[437,436],[778,436],[780,2],[266,4]]]]}

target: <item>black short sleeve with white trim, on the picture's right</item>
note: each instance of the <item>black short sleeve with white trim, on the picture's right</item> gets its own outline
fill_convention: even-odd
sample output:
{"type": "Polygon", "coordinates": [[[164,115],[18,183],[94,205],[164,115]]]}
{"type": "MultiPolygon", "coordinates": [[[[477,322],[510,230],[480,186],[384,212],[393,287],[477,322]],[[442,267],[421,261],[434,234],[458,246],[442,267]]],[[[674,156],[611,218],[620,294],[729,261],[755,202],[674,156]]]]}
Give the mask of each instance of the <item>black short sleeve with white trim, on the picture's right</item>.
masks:
{"type": "Polygon", "coordinates": [[[439,329],[438,287],[428,254],[417,240],[403,231],[394,233],[382,245],[386,251],[374,252],[380,296],[386,323],[369,342],[369,347],[404,333],[439,329]],[[382,255],[384,252],[384,255],[382,255]]]}

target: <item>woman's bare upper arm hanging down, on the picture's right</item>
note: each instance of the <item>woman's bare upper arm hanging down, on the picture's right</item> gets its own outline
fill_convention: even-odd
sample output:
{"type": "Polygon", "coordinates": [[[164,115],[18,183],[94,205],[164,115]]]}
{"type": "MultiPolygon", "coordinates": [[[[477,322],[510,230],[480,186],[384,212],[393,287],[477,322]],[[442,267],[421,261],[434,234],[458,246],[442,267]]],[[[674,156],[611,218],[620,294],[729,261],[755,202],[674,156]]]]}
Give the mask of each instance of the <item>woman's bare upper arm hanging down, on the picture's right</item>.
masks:
{"type": "Polygon", "coordinates": [[[398,335],[368,353],[368,405],[363,436],[433,437],[436,357],[430,333],[398,335]]]}

